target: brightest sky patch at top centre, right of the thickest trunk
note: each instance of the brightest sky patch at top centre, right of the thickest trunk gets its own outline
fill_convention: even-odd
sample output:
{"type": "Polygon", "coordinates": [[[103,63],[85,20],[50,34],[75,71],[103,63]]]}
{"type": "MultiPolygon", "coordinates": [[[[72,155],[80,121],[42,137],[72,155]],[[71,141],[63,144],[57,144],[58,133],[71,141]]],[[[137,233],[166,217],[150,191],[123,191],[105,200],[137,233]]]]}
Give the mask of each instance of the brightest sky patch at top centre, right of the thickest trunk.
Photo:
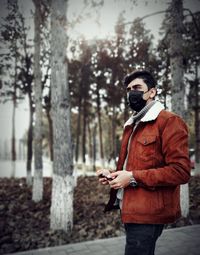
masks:
{"type": "MultiPolygon", "coordinates": [[[[70,0],[68,18],[71,20],[77,15],[78,9],[82,9],[78,3],[83,1],[70,0]]],[[[130,0],[105,0],[104,6],[99,8],[98,14],[91,18],[86,18],[80,25],[77,24],[74,29],[74,33],[79,35],[83,33],[86,38],[102,38],[109,37],[114,34],[114,26],[116,24],[119,13],[124,10],[124,17],[126,22],[133,21],[136,17],[143,17],[146,14],[153,13],[156,11],[162,11],[166,9],[166,0],[160,0],[155,4],[155,0],[148,1],[145,5],[145,0],[138,1],[139,5],[135,6],[130,0]]],[[[84,10],[83,13],[86,13],[84,10]]],[[[158,35],[158,29],[162,22],[163,15],[154,16],[147,20],[147,26],[152,29],[156,36],[158,35]]]]}

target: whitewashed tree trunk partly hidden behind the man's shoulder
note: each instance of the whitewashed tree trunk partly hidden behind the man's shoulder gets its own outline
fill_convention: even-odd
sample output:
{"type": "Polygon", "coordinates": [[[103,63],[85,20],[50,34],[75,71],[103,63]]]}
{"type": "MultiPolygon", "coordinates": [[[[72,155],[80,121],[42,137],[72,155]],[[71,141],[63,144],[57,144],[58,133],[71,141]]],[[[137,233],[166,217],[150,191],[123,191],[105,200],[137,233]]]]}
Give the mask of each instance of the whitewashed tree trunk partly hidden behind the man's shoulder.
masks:
{"type": "MultiPolygon", "coordinates": [[[[185,117],[185,86],[183,82],[183,3],[182,0],[171,2],[170,22],[170,66],[172,75],[172,111],[183,118],[185,117]]],[[[181,211],[182,216],[189,214],[189,189],[188,184],[181,185],[181,211]]]]}

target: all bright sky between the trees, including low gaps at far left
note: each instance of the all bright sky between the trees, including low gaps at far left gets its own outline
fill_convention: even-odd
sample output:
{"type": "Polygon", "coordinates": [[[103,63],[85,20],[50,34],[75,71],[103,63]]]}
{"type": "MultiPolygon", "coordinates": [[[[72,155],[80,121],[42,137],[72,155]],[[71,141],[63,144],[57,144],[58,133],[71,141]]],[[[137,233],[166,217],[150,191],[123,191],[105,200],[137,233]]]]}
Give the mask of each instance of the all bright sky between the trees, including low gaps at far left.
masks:
{"type": "MultiPolygon", "coordinates": [[[[100,0],[99,0],[100,1],[100,0]]],[[[31,21],[30,9],[33,7],[31,0],[20,0],[23,12],[27,17],[27,21],[31,21]]],[[[104,6],[99,9],[99,13],[94,17],[86,18],[81,24],[77,24],[73,31],[69,34],[78,36],[84,34],[87,39],[94,37],[110,37],[114,34],[114,25],[118,18],[119,13],[124,10],[126,22],[134,20],[136,17],[143,17],[146,14],[150,14],[157,11],[165,10],[169,0],[148,0],[148,4],[145,5],[145,0],[138,0],[138,6],[134,6],[129,0],[104,0],[104,6]],[[98,23],[97,23],[98,20],[98,23]]],[[[0,0],[0,17],[5,16],[5,3],[6,0],[0,0]]],[[[86,14],[88,10],[83,10],[82,0],[69,0],[68,19],[71,20],[77,17],[78,14],[86,14]]],[[[189,7],[191,11],[200,10],[199,0],[185,0],[184,6],[189,7]]],[[[145,19],[147,28],[152,31],[155,38],[158,38],[158,30],[161,26],[163,14],[159,14],[148,19],[145,19]]],[[[7,103],[5,105],[0,104],[0,139],[11,137],[11,114],[12,104],[7,103]]],[[[16,112],[16,136],[21,138],[28,127],[29,113],[27,102],[19,105],[16,112]]]]}

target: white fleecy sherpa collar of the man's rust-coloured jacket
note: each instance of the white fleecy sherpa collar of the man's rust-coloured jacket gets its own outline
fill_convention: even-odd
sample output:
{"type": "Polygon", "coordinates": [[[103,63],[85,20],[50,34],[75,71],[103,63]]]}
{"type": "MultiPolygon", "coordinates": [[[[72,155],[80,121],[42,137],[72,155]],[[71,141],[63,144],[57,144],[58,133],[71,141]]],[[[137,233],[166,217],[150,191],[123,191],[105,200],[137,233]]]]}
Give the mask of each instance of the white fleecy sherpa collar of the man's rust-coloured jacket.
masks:
{"type": "MultiPolygon", "coordinates": [[[[142,117],[140,121],[148,122],[148,121],[155,120],[163,109],[164,109],[164,106],[159,101],[156,101],[155,104],[148,110],[148,112],[144,115],[144,117],[142,117]]],[[[124,124],[124,127],[128,125],[132,125],[132,124],[133,124],[133,115],[126,121],[126,123],[124,124]]]]}

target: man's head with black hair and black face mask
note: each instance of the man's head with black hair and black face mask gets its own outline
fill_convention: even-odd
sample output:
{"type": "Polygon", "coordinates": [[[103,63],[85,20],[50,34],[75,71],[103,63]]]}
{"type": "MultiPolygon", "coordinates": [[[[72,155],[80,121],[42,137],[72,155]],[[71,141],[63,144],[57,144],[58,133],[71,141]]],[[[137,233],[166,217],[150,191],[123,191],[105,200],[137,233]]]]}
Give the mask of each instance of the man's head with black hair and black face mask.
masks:
{"type": "Polygon", "coordinates": [[[140,111],[156,96],[156,81],[148,71],[135,71],[124,79],[127,89],[128,102],[135,111],[140,111]]]}

